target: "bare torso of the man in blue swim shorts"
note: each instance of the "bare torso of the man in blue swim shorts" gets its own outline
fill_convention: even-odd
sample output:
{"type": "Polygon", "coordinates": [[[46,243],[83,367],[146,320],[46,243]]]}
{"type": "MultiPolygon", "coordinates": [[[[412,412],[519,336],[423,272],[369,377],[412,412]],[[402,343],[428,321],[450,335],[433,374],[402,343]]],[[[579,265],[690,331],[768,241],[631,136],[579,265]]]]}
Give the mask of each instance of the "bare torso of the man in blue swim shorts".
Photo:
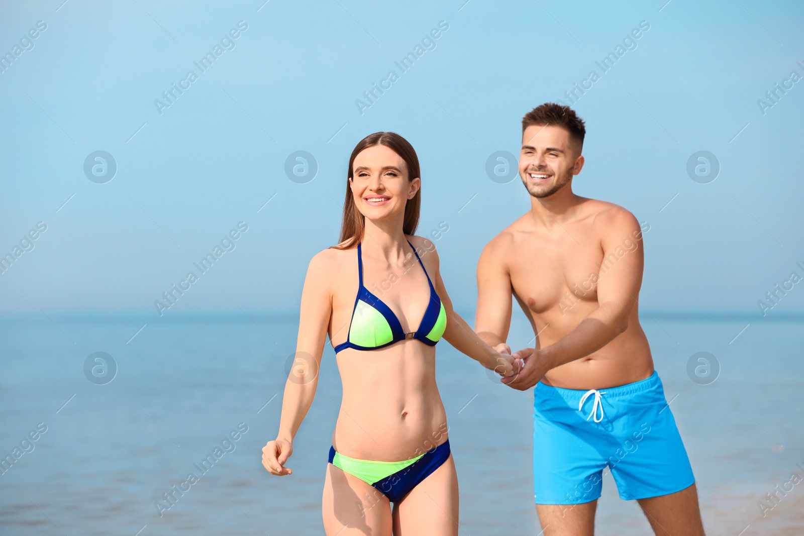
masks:
{"type": "MultiPolygon", "coordinates": [[[[538,333],[536,347],[564,338],[597,309],[597,282],[622,257],[604,259],[602,239],[612,231],[600,225],[604,211],[621,210],[613,203],[580,198],[576,217],[552,228],[535,226],[530,213],[501,233],[507,243],[512,293],[538,333]],[[596,224],[597,223],[597,224],[596,224]]],[[[638,255],[642,235],[609,236],[620,252],[638,255]]],[[[638,296],[634,296],[635,299],[638,296]]],[[[600,350],[549,370],[543,382],[569,389],[601,389],[650,376],[653,359],[634,302],[628,327],[600,350]]]]}

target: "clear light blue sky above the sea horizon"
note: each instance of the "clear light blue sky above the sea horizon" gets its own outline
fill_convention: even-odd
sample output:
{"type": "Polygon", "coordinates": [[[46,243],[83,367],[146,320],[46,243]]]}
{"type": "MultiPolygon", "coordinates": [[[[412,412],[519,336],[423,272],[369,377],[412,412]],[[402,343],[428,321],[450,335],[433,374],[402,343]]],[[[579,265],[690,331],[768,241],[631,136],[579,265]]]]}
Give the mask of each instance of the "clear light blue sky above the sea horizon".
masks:
{"type": "MultiPolygon", "coordinates": [[[[642,305],[761,318],[766,292],[804,276],[804,81],[785,82],[804,76],[802,15],[757,0],[6,4],[0,54],[19,55],[0,72],[0,254],[33,248],[0,274],[0,308],[155,318],[162,292],[244,222],[164,313],[293,313],[310,257],[337,241],[351,149],[392,130],[420,157],[419,234],[449,225],[442,276],[471,311],[483,245],[529,207],[486,159],[518,153],[523,114],[595,70],[574,104],[587,123],[574,189],[650,224],[642,305]],[[171,84],[189,85],[160,110],[171,84]],[[792,84],[775,103],[774,84],[792,84]],[[102,184],[84,174],[99,150],[117,165],[102,184]],[[317,162],[309,182],[285,174],[300,150],[317,162]],[[687,174],[702,150],[720,165],[705,184],[687,174]]],[[[804,283],[767,314],[800,313],[804,283]]]]}

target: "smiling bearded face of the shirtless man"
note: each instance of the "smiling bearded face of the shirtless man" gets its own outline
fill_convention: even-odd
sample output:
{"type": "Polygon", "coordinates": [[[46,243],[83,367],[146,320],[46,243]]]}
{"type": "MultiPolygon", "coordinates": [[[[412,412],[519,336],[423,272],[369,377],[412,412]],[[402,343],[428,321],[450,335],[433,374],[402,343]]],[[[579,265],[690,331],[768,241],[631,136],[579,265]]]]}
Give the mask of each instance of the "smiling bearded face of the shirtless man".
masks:
{"type": "Polygon", "coordinates": [[[528,126],[519,153],[519,177],[528,193],[546,198],[570,182],[584,163],[579,145],[559,126],[528,126]]]}

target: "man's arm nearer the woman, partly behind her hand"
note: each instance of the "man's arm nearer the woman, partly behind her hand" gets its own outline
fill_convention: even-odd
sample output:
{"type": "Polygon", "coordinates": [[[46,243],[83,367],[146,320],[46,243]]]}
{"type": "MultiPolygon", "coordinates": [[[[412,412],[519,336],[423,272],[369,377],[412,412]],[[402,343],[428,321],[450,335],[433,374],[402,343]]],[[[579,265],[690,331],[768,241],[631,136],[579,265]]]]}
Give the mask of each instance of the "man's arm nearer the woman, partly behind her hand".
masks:
{"type": "Polygon", "coordinates": [[[480,254],[478,308],[474,314],[475,332],[498,351],[503,350],[497,346],[505,344],[511,328],[511,275],[503,252],[505,239],[506,236],[498,235],[480,254]]]}

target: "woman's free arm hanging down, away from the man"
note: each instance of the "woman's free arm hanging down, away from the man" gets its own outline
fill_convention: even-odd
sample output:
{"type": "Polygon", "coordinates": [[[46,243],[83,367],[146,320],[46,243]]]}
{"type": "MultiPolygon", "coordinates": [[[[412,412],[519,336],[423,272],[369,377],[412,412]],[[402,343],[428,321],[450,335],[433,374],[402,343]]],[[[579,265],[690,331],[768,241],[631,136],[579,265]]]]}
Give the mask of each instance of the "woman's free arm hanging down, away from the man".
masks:
{"type": "Polygon", "coordinates": [[[326,329],[332,313],[330,276],[334,252],[324,250],[310,260],[304,289],[301,291],[301,313],[296,342],[296,355],[285,383],[282,414],[277,439],[262,449],[262,464],[269,473],[284,476],[292,473],[283,467],[293,452],[293,437],[301,426],[318,387],[318,370],[326,343],[326,329]]]}

